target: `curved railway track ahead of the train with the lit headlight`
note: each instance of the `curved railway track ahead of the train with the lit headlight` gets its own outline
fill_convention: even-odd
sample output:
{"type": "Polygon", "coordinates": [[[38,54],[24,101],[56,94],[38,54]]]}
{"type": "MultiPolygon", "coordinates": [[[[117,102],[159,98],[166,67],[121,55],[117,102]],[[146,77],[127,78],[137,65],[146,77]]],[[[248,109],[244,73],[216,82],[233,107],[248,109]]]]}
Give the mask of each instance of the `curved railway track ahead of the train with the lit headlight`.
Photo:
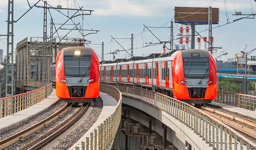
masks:
{"type": "MultiPolygon", "coordinates": [[[[10,136],[6,139],[3,139],[2,141],[0,141],[0,149],[3,149],[3,148],[9,149],[13,145],[15,146],[15,142],[23,141],[24,139],[26,139],[26,137],[29,137],[31,135],[35,135],[38,130],[41,130],[43,127],[47,127],[48,124],[52,123],[57,118],[61,117],[61,115],[66,113],[68,110],[70,110],[71,107],[72,107],[72,103],[71,104],[66,104],[64,107],[61,108],[61,110],[57,111],[56,113],[54,113],[50,117],[47,117],[46,119],[40,121],[39,123],[34,124],[33,126],[28,127],[27,129],[24,129],[21,132],[16,133],[15,135],[12,135],[12,136],[10,136]]],[[[80,115],[78,115],[78,114],[81,114],[81,111],[84,110],[84,108],[88,108],[88,107],[89,107],[89,104],[87,104],[86,106],[84,106],[84,105],[81,106],[79,108],[79,110],[75,114],[73,114],[71,117],[69,117],[68,119],[63,121],[58,126],[54,127],[52,130],[48,131],[44,135],[40,136],[39,138],[33,140],[29,144],[20,148],[20,150],[27,149],[27,148],[31,147],[32,145],[34,145],[36,143],[42,143],[42,142],[39,142],[39,141],[41,141],[42,139],[48,139],[49,136],[52,136],[52,134],[55,133],[54,131],[58,130],[59,128],[60,129],[65,128],[65,127],[67,128],[67,123],[73,122],[72,120],[74,120],[74,118],[76,118],[76,117],[79,117],[80,115]]]]}

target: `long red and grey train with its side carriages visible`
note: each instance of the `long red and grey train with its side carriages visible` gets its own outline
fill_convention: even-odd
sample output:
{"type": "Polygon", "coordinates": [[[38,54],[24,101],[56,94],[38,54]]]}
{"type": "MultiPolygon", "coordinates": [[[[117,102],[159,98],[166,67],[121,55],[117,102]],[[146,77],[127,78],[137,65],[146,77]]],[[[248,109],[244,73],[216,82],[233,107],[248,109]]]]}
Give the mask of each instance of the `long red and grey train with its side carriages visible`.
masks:
{"type": "Polygon", "coordinates": [[[192,104],[216,98],[216,63],[210,52],[185,49],[160,57],[100,65],[100,81],[172,91],[173,97],[192,104]]]}

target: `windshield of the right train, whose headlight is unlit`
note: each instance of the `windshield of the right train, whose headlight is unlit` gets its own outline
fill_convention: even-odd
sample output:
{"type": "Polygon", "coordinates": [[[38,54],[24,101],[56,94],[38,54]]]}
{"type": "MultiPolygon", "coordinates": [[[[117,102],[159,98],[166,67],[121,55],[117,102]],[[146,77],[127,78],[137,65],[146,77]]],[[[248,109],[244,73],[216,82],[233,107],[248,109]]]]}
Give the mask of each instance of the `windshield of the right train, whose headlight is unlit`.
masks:
{"type": "Polygon", "coordinates": [[[209,78],[209,58],[183,58],[185,78],[209,78]]]}

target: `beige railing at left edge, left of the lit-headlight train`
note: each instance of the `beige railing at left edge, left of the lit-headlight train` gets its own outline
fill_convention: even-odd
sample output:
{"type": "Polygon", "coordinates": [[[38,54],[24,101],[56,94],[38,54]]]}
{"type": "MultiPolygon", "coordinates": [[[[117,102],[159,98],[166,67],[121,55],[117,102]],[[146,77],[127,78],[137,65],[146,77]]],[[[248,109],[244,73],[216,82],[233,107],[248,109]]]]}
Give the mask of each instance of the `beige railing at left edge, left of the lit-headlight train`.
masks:
{"type": "Polygon", "coordinates": [[[19,95],[13,96],[13,110],[12,109],[12,98],[6,97],[0,99],[0,118],[17,113],[18,111],[24,110],[32,105],[37,104],[38,102],[43,101],[47,96],[52,92],[52,84],[47,87],[42,87],[40,89],[30,91],[27,93],[22,93],[19,95]],[[46,91],[47,90],[47,91],[46,91]]]}

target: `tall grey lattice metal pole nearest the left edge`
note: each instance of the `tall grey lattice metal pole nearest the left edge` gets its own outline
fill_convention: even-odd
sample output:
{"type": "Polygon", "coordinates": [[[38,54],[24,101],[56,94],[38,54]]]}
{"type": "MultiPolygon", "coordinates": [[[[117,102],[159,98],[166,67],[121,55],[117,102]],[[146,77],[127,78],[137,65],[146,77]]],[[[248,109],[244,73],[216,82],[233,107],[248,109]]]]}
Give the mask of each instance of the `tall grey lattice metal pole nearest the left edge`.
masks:
{"type": "Polygon", "coordinates": [[[13,92],[14,92],[14,67],[13,67],[13,20],[14,12],[13,12],[13,0],[8,0],[8,25],[7,25],[7,59],[6,59],[6,91],[5,97],[12,97],[12,110],[11,114],[13,114],[13,92]],[[11,37],[10,37],[11,36],[11,37]],[[11,47],[11,50],[9,49],[11,47]]]}

